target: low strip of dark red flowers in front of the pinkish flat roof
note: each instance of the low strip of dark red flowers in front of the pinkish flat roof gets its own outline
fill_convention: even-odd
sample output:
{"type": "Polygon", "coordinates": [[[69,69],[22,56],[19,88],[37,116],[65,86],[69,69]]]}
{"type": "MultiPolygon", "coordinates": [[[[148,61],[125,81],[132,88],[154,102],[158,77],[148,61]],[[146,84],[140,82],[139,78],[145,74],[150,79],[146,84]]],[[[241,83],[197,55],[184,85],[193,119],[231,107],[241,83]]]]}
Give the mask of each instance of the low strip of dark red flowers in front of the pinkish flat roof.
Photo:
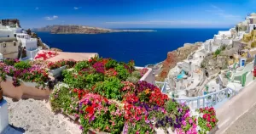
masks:
{"type": "Polygon", "coordinates": [[[47,67],[49,70],[55,70],[57,68],[60,68],[61,66],[67,65],[67,69],[73,68],[73,66],[76,64],[76,61],[73,59],[68,60],[59,60],[56,62],[50,62],[47,67]]]}

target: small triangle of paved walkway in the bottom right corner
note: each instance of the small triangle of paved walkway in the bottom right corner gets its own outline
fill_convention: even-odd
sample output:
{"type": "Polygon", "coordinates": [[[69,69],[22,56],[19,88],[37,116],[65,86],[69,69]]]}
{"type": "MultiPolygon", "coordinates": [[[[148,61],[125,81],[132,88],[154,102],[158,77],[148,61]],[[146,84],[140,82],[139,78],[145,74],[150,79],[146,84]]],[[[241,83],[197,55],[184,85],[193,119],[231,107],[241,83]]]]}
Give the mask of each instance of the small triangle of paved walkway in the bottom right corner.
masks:
{"type": "Polygon", "coordinates": [[[232,124],[225,134],[255,134],[256,105],[232,124]]]}

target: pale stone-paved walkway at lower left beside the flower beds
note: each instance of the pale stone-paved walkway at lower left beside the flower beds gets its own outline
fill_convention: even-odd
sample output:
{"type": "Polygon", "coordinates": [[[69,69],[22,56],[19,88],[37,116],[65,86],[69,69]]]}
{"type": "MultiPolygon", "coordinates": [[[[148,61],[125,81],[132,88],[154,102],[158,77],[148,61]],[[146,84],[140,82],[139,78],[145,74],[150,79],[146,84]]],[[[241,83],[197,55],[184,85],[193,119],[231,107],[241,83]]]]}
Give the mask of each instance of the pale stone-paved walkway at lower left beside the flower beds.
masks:
{"type": "Polygon", "coordinates": [[[80,134],[79,126],[62,114],[54,114],[43,101],[26,99],[8,102],[9,125],[26,134],[80,134]]]}

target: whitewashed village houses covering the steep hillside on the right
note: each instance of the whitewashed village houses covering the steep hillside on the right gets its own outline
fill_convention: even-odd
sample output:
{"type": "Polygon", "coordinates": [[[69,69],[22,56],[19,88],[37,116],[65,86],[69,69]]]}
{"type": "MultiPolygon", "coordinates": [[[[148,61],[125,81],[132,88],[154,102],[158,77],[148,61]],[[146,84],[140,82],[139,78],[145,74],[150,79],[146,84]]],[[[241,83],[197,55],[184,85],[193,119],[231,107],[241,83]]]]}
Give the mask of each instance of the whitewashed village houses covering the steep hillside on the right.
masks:
{"type": "MultiPolygon", "coordinates": [[[[255,20],[256,14],[250,14],[234,28],[218,31],[218,35],[206,42],[184,44],[179,49],[192,45],[196,46],[196,50],[192,50],[183,60],[173,59],[168,53],[163,66],[166,62],[172,63],[172,60],[177,64],[166,74],[163,92],[170,98],[189,99],[219,92],[224,88],[238,92],[250,84],[255,76],[255,20]]],[[[212,98],[207,101],[218,100],[212,98]]]]}

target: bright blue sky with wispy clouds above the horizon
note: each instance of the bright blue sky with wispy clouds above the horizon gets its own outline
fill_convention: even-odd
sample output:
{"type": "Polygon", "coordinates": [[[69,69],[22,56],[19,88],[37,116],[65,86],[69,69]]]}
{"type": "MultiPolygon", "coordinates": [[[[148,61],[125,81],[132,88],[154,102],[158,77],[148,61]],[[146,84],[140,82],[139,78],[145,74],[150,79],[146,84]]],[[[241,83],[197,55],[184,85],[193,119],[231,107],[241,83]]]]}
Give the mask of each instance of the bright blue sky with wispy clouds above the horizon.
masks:
{"type": "Polygon", "coordinates": [[[90,25],[106,28],[228,28],[256,11],[253,0],[7,0],[0,19],[24,28],[90,25]]]}

